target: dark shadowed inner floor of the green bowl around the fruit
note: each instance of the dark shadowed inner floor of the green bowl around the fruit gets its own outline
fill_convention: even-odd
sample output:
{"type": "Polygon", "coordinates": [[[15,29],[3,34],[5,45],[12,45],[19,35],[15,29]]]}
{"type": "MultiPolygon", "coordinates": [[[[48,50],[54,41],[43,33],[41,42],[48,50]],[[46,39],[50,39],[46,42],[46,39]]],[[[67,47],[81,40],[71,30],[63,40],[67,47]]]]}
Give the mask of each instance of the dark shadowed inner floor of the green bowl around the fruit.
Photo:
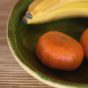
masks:
{"type": "Polygon", "coordinates": [[[88,61],[84,60],[81,67],[72,72],[58,71],[45,67],[38,60],[35,54],[35,46],[38,38],[48,31],[61,31],[67,33],[79,41],[80,35],[88,27],[88,19],[85,18],[70,18],[41,25],[26,25],[20,21],[16,37],[18,48],[24,58],[38,71],[46,76],[54,77],[55,79],[66,80],[70,82],[88,83],[88,61]]]}

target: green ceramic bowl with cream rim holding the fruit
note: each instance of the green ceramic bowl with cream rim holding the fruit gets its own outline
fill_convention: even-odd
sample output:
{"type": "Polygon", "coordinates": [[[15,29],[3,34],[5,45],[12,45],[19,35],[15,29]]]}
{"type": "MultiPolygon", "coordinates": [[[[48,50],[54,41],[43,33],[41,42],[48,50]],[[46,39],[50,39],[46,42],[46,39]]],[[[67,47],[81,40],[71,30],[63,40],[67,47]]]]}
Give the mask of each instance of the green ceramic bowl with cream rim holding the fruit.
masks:
{"type": "Polygon", "coordinates": [[[80,68],[66,72],[45,67],[37,59],[35,45],[45,32],[57,30],[65,32],[79,41],[87,18],[68,18],[49,23],[27,25],[22,21],[32,0],[20,0],[12,11],[8,23],[7,39],[17,62],[32,76],[41,82],[56,88],[88,88],[88,61],[84,60],[80,68]]]}

